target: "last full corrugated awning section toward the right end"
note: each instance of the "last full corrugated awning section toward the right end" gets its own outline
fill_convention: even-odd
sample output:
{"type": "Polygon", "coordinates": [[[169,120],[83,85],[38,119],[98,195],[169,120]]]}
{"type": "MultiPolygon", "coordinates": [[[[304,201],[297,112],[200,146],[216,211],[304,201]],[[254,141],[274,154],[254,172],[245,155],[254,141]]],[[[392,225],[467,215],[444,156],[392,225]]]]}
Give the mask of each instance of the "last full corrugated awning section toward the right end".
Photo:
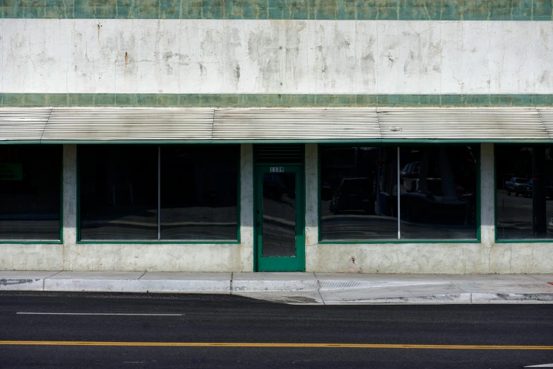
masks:
{"type": "Polygon", "coordinates": [[[534,108],[379,108],[383,139],[549,139],[534,108]]]}

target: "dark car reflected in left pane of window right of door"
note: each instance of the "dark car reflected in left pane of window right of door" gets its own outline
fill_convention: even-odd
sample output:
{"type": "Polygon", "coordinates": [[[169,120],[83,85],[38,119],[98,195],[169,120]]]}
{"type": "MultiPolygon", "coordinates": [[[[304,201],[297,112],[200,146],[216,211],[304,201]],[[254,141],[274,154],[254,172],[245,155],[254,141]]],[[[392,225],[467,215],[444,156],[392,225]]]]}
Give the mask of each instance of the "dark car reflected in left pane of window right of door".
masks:
{"type": "Polygon", "coordinates": [[[330,210],[334,214],[348,210],[374,213],[374,191],[371,179],[368,177],[343,178],[333,196],[330,210]]]}

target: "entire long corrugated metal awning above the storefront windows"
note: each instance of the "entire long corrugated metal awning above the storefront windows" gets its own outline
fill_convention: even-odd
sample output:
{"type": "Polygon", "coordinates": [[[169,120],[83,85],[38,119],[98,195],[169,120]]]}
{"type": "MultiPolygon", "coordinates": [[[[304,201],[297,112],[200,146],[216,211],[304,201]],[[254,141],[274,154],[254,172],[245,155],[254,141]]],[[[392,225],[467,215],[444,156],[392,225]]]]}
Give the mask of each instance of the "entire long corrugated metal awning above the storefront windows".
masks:
{"type": "Polygon", "coordinates": [[[0,108],[0,143],[552,142],[553,107],[0,108]]]}

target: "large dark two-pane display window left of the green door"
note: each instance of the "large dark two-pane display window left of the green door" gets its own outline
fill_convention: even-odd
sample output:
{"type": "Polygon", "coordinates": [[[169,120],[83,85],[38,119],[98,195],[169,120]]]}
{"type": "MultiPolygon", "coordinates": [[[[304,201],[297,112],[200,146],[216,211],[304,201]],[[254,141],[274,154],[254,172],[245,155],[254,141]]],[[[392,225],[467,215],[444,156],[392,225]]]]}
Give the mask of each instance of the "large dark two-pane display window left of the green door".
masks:
{"type": "Polygon", "coordinates": [[[237,241],[237,146],[79,146],[81,241],[237,241]]]}

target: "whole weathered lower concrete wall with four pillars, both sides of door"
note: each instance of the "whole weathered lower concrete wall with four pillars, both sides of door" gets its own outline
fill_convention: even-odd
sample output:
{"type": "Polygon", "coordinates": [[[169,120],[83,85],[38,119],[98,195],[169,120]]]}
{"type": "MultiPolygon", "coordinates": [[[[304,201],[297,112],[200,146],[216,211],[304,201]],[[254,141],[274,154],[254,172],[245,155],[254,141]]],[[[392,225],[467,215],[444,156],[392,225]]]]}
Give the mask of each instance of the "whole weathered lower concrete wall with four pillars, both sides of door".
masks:
{"type": "MultiPolygon", "coordinates": [[[[480,243],[319,244],[316,144],[305,148],[306,270],[359,273],[553,273],[551,243],[495,243],[494,146],[481,146],[480,243]]],[[[241,147],[241,242],[234,244],[76,243],[76,146],[64,146],[64,244],[3,244],[0,269],[81,271],[251,271],[253,150],[241,147]]]]}

